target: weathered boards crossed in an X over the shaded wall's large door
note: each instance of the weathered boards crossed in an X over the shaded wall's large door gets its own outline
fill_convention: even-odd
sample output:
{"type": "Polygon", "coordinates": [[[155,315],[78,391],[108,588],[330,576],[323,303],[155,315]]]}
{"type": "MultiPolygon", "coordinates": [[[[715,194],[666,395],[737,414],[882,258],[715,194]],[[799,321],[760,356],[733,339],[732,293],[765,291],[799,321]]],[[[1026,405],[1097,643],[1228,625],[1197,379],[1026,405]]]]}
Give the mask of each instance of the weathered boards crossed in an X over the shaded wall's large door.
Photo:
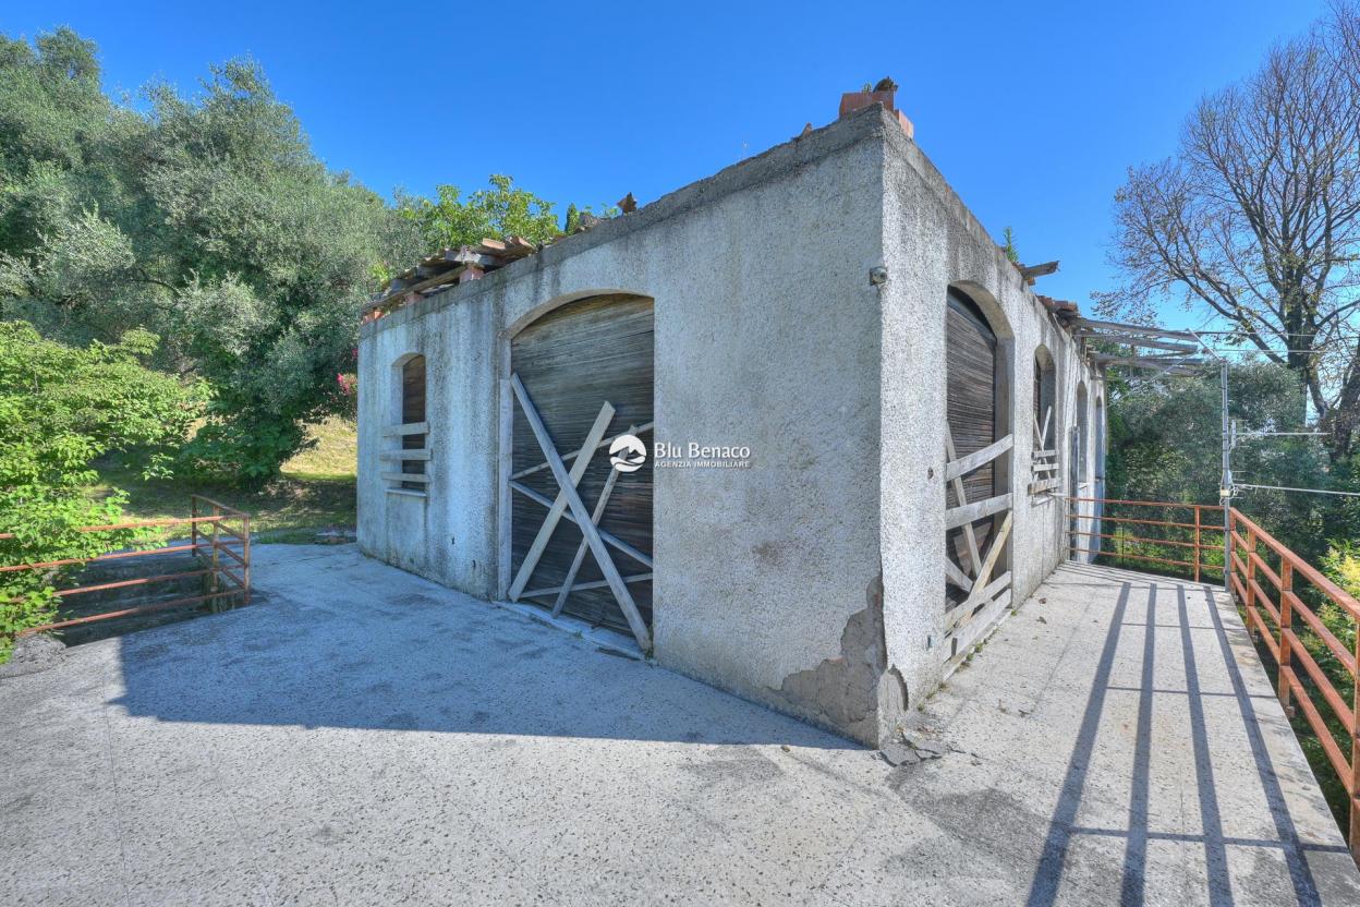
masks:
{"type": "MultiPolygon", "coordinates": [[[[514,582],[510,585],[510,598],[517,600],[520,594],[524,593],[524,587],[528,585],[529,577],[533,574],[533,568],[543,556],[543,551],[548,547],[548,540],[552,537],[554,529],[558,528],[558,522],[562,519],[563,513],[570,509],[574,522],[581,528],[585,544],[590,548],[590,553],[594,555],[596,563],[600,564],[600,572],[604,574],[609,590],[613,593],[615,600],[617,600],[619,608],[623,609],[623,616],[628,620],[628,627],[632,628],[632,635],[636,638],[638,646],[641,646],[643,651],[650,651],[651,634],[647,632],[647,624],[643,623],[642,615],[638,612],[638,605],[632,601],[628,585],[619,574],[619,568],[615,566],[613,559],[609,556],[609,549],[605,547],[605,541],[600,536],[600,529],[596,526],[598,517],[594,517],[586,509],[585,502],[581,500],[581,492],[577,491],[577,484],[581,481],[586,468],[590,465],[590,457],[598,449],[600,441],[604,438],[604,432],[609,428],[609,420],[613,419],[613,407],[609,405],[609,403],[605,403],[600,408],[600,415],[596,416],[594,424],[590,427],[590,432],[586,435],[585,443],[581,445],[581,451],[577,454],[575,462],[571,465],[571,472],[567,472],[567,466],[562,461],[562,456],[558,453],[556,447],[552,446],[552,437],[548,434],[547,426],[543,424],[539,411],[534,409],[533,401],[529,400],[529,392],[525,390],[524,382],[520,381],[518,374],[510,375],[510,388],[514,390],[515,400],[520,401],[520,408],[524,411],[525,419],[529,422],[529,428],[533,431],[533,437],[539,442],[539,449],[543,450],[544,460],[548,462],[548,469],[552,470],[552,477],[558,483],[558,498],[549,506],[548,517],[544,519],[543,526],[539,528],[539,534],[529,547],[529,553],[525,556],[524,563],[520,566],[520,572],[515,574],[514,582]]],[[[577,566],[579,567],[579,564],[577,566]]],[[[567,583],[564,583],[564,590],[571,589],[571,579],[574,579],[574,577],[568,578],[567,583]]],[[[560,606],[562,604],[559,601],[554,611],[559,611],[560,606]]]]}

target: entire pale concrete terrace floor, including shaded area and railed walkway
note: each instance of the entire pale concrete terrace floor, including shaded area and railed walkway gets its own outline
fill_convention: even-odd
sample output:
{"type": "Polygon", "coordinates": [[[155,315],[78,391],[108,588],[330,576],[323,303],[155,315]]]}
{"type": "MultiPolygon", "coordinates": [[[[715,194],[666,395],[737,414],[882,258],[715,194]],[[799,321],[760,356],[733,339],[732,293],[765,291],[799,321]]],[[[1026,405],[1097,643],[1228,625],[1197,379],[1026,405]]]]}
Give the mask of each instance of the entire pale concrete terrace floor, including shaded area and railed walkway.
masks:
{"type": "Polygon", "coordinates": [[[0,903],[1360,903],[1198,586],[1061,570],[891,768],[352,547],[254,572],[0,681],[0,903]]]}

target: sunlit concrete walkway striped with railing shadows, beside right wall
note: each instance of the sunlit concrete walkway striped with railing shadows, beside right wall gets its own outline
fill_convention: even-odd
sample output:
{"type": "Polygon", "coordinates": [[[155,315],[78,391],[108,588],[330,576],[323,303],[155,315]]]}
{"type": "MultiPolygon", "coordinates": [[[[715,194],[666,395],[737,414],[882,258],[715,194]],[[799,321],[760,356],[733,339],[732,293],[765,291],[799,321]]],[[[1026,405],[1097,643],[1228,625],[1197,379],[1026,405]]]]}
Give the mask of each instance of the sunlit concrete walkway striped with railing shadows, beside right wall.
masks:
{"type": "Polygon", "coordinates": [[[1360,904],[1360,874],[1219,590],[1064,566],[928,703],[922,729],[968,759],[899,790],[994,859],[982,876],[1028,865],[997,903],[1360,904]]]}

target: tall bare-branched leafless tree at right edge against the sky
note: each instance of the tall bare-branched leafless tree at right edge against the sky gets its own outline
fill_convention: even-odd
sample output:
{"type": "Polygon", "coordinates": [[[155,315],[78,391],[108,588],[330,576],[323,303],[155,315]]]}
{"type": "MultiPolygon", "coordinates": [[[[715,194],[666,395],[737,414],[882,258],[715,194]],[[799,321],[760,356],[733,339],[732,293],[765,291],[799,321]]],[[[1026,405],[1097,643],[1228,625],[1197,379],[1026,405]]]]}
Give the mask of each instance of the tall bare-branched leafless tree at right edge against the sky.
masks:
{"type": "Polygon", "coordinates": [[[1300,407],[1360,430],[1360,5],[1336,0],[1310,34],[1206,97],[1178,154],[1129,170],[1104,313],[1146,318],[1179,296],[1299,375],[1300,407]],[[1307,401],[1307,404],[1304,403],[1307,401]]]}

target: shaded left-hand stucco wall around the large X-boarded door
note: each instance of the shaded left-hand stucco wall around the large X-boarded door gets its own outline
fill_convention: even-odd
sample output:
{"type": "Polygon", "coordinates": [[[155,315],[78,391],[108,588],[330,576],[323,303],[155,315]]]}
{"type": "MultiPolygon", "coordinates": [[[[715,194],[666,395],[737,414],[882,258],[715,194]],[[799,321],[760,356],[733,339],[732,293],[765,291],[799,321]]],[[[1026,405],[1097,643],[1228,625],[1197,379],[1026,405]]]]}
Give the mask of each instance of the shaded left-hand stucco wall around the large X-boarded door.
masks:
{"type": "MultiPolygon", "coordinates": [[[[753,461],[654,472],[656,657],[845,730],[846,714],[781,688],[842,657],[846,623],[879,574],[879,294],[868,275],[880,260],[881,129],[876,116],[836,124],[367,325],[362,549],[503,594],[495,450],[510,337],[582,295],[650,296],[656,439],[744,445],[753,461]],[[407,352],[428,356],[426,500],[377,479],[378,450],[396,446],[379,434],[394,419],[390,363],[407,352]]],[[[872,707],[869,695],[866,729],[872,707]]]]}

